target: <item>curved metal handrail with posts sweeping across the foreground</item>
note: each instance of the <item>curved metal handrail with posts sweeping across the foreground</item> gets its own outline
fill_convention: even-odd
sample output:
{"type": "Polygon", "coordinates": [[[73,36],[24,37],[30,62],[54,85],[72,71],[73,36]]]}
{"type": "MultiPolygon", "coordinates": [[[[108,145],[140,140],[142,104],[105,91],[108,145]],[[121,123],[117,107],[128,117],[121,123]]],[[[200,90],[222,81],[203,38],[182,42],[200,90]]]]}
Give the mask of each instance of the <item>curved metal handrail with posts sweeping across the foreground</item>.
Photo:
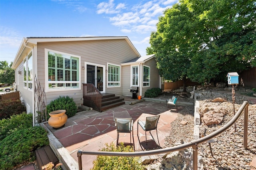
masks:
{"type": "Polygon", "coordinates": [[[78,156],[78,165],[79,170],[82,170],[82,155],[88,154],[88,155],[102,155],[102,156],[147,156],[147,155],[154,155],[154,154],[162,154],[162,153],[168,153],[168,152],[174,152],[178,150],[183,150],[189,147],[192,147],[193,150],[193,167],[194,169],[197,169],[197,146],[198,144],[201,144],[203,142],[207,142],[208,140],[214,138],[215,136],[221,134],[225,130],[227,130],[229,127],[231,127],[237,119],[242,114],[242,111],[244,110],[244,148],[247,148],[247,130],[248,130],[248,101],[244,101],[240,109],[236,112],[234,117],[223,127],[219,128],[218,130],[208,134],[207,136],[204,136],[202,138],[192,140],[188,143],[184,143],[178,146],[173,146],[170,148],[162,148],[157,150],[147,150],[142,152],[106,152],[106,151],[84,151],[84,150],[78,150],[77,156],[78,156]]]}

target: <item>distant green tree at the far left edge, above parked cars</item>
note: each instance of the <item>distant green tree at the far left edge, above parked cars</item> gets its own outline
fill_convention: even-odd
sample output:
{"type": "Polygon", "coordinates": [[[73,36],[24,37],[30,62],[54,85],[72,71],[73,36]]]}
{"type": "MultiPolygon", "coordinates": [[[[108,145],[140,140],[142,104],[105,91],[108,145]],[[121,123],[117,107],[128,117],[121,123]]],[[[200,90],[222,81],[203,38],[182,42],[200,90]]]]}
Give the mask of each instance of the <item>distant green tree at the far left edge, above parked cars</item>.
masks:
{"type": "Polygon", "coordinates": [[[15,71],[11,68],[12,62],[8,65],[7,61],[0,61],[2,67],[0,68],[0,83],[12,84],[15,81],[15,71]],[[7,63],[7,66],[6,66],[7,63]]]}

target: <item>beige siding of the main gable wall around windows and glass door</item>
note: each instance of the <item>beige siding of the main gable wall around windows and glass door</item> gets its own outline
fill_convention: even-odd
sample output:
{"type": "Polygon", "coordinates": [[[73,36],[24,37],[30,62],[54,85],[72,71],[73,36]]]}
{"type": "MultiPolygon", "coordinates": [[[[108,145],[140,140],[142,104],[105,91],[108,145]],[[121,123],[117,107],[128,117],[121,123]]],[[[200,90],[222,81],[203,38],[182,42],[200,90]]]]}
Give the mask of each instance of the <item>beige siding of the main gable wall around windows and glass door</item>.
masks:
{"type": "MultiPolygon", "coordinates": [[[[78,55],[81,57],[80,68],[85,67],[84,62],[96,63],[105,65],[108,69],[107,63],[120,65],[134,59],[136,53],[130,48],[126,40],[91,40],[91,41],[76,41],[76,42],[44,42],[37,45],[37,63],[38,63],[38,81],[40,81],[41,87],[45,87],[45,68],[44,64],[45,49],[60,51],[71,55],[78,55]]],[[[121,78],[124,77],[121,68],[121,78]]],[[[113,93],[115,95],[123,95],[123,79],[121,79],[121,87],[108,87],[107,85],[107,72],[106,74],[106,93],[113,93]]],[[[66,90],[66,91],[51,91],[46,92],[47,103],[50,103],[55,98],[61,96],[70,96],[74,99],[77,105],[81,105],[83,102],[82,97],[82,83],[85,83],[85,70],[81,69],[80,72],[81,89],[78,90],[66,90]]],[[[130,79],[129,79],[130,81],[130,79]]],[[[130,88],[130,87],[129,87],[130,88]]]]}

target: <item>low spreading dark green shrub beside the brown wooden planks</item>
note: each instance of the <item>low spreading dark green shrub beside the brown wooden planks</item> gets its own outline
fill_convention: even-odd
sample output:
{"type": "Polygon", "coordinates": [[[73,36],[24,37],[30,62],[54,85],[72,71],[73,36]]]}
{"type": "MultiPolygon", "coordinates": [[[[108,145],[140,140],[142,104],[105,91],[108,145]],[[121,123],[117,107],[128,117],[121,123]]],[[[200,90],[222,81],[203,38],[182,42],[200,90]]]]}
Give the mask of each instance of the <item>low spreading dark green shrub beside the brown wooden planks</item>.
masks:
{"type": "Polygon", "coordinates": [[[42,127],[19,129],[0,141],[0,169],[13,169],[26,161],[35,160],[35,150],[49,144],[42,127]]]}

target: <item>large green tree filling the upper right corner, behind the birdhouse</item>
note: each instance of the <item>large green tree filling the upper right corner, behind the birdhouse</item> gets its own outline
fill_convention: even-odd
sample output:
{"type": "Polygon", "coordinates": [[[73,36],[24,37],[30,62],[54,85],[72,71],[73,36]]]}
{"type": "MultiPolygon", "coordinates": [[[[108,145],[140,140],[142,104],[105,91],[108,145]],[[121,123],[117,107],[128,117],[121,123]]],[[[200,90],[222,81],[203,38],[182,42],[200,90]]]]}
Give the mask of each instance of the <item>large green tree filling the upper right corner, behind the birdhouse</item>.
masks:
{"type": "Polygon", "coordinates": [[[204,48],[192,58],[188,77],[226,81],[228,72],[256,66],[256,3],[252,0],[184,0],[203,23],[204,48]],[[201,62],[200,62],[201,61],[201,62]]]}

